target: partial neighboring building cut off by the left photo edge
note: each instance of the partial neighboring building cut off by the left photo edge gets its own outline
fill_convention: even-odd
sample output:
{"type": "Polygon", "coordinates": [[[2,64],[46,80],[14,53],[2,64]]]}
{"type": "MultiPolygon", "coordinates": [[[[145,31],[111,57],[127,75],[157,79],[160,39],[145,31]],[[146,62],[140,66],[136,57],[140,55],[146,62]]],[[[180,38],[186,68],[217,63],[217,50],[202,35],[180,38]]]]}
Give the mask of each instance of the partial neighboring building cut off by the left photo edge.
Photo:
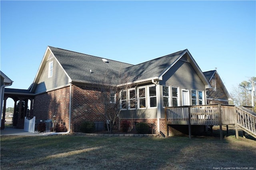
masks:
{"type": "Polygon", "coordinates": [[[12,85],[13,81],[9,77],[7,77],[2,71],[0,71],[0,80],[1,80],[0,81],[0,85],[1,85],[0,113],[1,113],[1,118],[3,117],[3,119],[0,121],[0,127],[1,127],[2,121],[4,123],[4,117],[5,117],[5,108],[3,109],[3,106],[6,106],[6,103],[5,103],[6,100],[4,100],[4,89],[5,87],[12,85]]]}

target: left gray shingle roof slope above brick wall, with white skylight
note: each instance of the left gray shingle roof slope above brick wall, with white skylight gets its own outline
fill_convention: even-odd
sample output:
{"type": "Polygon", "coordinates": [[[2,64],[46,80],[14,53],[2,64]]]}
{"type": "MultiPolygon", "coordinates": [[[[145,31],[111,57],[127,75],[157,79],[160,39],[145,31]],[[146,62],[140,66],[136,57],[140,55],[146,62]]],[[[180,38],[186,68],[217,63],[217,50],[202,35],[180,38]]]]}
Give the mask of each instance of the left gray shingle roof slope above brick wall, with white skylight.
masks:
{"type": "Polygon", "coordinates": [[[123,68],[132,66],[132,64],[122,63],[111,59],[107,59],[108,63],[105,63],[102,61],[101,57],[65,49],[55,47],[50,47],[50,49],[73,81],[97,82],[97,77],[105,75],[106,72],[111,72],[116,75],[120,73],[123,68]],[[92,70],[93,73],[90,73],[90,70],[92,70]]]}

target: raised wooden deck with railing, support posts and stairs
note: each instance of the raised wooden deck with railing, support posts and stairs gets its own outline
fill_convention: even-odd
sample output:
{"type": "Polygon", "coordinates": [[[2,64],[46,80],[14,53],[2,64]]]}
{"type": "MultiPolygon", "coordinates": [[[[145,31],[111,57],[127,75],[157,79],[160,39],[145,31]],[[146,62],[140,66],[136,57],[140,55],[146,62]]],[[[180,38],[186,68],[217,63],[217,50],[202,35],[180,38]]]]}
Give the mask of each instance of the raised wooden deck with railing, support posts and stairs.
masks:
{"type": "Polygon", "coordinates": [[[166,107],[165,120],[166,134],[168,134],[168,125],[188,125],[190,137],[191,125],[218,125],[222,136],[222,125],[235,125],[256,136],[256,115],[234,105],[166,107]]]}

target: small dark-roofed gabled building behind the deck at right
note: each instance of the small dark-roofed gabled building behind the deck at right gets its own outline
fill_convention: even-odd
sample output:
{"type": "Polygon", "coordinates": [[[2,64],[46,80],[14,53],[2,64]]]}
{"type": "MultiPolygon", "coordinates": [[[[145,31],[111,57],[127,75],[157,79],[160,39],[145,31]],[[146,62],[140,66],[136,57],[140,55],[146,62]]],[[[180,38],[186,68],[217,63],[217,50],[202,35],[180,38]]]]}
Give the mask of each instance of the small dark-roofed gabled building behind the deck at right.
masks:
{"type": "Polygon", "coordinates": [[[217,70],[204,72],[205,77],[212,85],[212,89],[206,90],[207,104],[225,104],[232,101],[224,83],[220,79],[217,70]]]}

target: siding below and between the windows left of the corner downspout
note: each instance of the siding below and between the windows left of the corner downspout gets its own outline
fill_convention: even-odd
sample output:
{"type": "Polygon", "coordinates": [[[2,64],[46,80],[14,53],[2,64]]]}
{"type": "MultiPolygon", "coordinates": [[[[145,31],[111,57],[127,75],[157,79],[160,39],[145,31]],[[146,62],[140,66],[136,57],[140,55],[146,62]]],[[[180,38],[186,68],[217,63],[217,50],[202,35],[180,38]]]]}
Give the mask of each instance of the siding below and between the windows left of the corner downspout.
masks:
{"type": "MultiPolygon", "coordinates": [[[[148,86],[151,86],[151,85],[148,85],[148,86]]],[[[146,88],[146,109],[122,110],[120,112],[121,119],[156,119],[157,118],[157,108],[148,108],[148,86],[141,86],[146,88]]],[[[136,93],[138,88],[140,87],[136,88],[136,93]]],[[[138,105],[136,107],[138,107],[138,105]]]]}

